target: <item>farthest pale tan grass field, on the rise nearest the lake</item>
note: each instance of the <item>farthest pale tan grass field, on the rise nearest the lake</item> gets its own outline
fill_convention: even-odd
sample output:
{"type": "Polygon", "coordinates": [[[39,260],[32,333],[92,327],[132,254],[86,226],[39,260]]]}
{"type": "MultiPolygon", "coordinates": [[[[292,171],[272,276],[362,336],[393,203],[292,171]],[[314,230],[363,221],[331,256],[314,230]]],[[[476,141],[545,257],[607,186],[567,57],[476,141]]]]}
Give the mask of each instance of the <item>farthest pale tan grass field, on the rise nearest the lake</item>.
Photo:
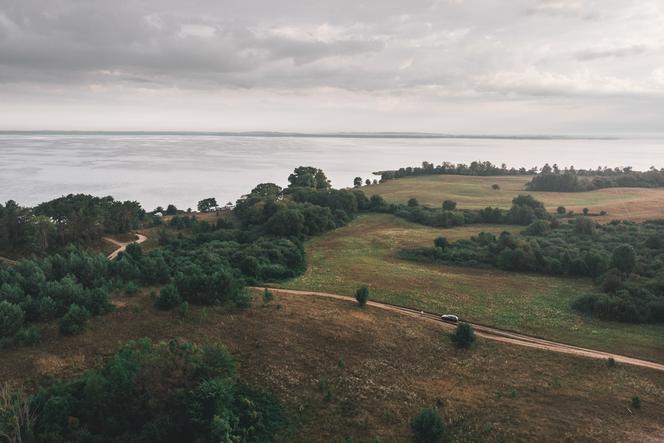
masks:
{"type": "Polygon", "coordinates": [[[528,176],[468,177],[460,175],[428,175],[388,180],[364,186],[368,195],[378,194],[387,201],[405,203],[415,197],[422,204],[440,206],[443,200],[454,200],[459,208],[509,208],[512,198],[520,193],[532,194],[548,209],[565,206],[581,212],[606,211],[603,219],[647,220],[664,217],[664,189],[608,188],[590,192],[526,192],[528,176]],[[491,188],[493,184],[500,189],[491,188]]]}

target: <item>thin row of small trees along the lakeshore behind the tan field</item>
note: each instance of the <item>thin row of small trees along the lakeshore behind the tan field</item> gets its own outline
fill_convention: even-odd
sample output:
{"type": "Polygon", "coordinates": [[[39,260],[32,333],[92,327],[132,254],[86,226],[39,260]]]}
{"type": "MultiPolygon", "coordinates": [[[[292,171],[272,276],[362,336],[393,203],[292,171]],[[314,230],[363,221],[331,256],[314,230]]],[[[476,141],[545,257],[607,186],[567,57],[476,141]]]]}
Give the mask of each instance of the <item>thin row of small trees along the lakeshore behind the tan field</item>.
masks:
{"type": "Polygon", "coordinates": [[[474,161],[470,164],[443,162],[434,165],[429,162],[422,162],[422,166],[408,166],[394,171],[381,171],[381,181],[392,180],[402,177],[412,177],[417,175],[472,175],[472,176],[501,176],[501,175],[533,175],[537,174],[538,168],[508,168],[505,163],[494,165],[489,161],[474,161]]]}

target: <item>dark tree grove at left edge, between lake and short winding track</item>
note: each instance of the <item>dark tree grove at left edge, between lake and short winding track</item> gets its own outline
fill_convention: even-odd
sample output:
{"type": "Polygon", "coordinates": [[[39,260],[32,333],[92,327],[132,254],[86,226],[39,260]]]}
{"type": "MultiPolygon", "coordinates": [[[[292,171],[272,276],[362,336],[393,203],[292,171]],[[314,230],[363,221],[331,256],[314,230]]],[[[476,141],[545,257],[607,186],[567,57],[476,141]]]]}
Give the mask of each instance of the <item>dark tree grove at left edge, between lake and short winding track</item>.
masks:
{"type": "Polygon", "coordinates": [[[34,208],[9,200],[0,204],[0,250],[29,255],[57,251],[69,243],[86,245],[103,234],[127,233],[144,217],[137,202],[113,197],[70,194],[34,208]]]}

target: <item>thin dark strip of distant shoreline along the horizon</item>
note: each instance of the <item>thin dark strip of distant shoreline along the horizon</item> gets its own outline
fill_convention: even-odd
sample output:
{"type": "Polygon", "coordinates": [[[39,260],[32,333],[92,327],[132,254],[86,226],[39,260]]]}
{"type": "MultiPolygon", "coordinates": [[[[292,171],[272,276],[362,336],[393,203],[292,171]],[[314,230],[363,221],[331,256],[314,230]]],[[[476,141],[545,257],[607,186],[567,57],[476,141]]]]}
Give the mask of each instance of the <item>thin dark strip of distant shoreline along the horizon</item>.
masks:
{"type": "Polygon", "coordinates": [[[664,139],[655,135],[537,135],[537,134],[443,134],[425,132],[272,132],[272,131],[25,131],[0,130],[0,135],[182,135],[218,137],[298,137],[298,138],[373,138],[373,139],[478,139],[478,140],[629,140],[664,139]]]}

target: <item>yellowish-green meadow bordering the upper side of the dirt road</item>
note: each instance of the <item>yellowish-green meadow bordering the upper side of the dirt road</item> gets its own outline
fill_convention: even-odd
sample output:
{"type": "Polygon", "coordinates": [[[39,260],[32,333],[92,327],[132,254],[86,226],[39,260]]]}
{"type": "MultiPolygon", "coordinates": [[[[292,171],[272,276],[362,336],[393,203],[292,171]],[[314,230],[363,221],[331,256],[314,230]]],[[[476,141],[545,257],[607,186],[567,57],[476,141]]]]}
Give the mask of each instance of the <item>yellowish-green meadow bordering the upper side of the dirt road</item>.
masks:
{"type": "MultiPolygon", "coordinates": [[[[505,226],[439,230],[391,215],[365,215],[306,245],[306,273],[283,286],[353,295],[369,286],[372,298],[477,323],[664,362],[664,326],[605,322],[579,315],[570,301],[592,288],[586,279],[559,278],[423,264],[399,259],[404,247],[429,245],[505,226]]],[[[518,227],[508,227],[518,231],[518,227]]]]}

